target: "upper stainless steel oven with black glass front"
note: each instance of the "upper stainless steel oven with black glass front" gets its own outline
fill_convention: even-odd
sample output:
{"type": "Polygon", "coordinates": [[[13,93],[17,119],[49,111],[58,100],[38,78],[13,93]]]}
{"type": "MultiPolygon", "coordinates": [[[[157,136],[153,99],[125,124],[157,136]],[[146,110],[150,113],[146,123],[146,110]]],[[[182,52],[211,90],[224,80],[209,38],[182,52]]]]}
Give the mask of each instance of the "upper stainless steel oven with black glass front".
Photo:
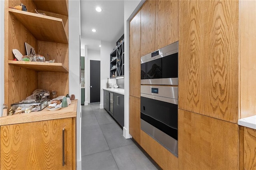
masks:
{"type": "Polygon", "coordinates": [[[141,57],[141,84],[178,85],[178,42],[141,57]]]}

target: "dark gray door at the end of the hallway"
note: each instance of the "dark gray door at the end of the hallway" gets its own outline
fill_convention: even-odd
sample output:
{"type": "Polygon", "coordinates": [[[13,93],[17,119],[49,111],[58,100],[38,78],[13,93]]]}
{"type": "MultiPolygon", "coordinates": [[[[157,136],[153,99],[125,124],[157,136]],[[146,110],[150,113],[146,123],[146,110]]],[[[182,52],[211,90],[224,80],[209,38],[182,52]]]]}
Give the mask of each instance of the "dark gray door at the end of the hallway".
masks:
{"type": "Polygon", "coordinates": [[[90,103],[100,102],[100,61],[90,60],[90,103]]]}

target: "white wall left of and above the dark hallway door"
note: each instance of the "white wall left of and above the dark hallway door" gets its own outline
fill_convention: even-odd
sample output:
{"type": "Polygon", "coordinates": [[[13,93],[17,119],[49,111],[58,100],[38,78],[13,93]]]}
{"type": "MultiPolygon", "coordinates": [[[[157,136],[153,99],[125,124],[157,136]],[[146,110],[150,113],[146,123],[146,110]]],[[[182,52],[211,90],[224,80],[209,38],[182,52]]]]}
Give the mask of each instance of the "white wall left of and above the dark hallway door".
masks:
{"type": "Polygon", "coordinates": [[[87,101],[88,101],[88,103],[90,103],[90,60],[96,60],[96,61],[100,61],[100,51],[99,50],[92,50],[92,49],[88,49],[88,51],[87,51],[87,53],[88,53],[88,60],[87,60],[87,62],[88,62],[88,66],[87,66],[87,68],[88,69],[86,69],[85,68],[85,70],[86,71],[88,71],[88,79],[87,79],[87,94],[88,94],[88,97],[87,97],[87,101]]]}

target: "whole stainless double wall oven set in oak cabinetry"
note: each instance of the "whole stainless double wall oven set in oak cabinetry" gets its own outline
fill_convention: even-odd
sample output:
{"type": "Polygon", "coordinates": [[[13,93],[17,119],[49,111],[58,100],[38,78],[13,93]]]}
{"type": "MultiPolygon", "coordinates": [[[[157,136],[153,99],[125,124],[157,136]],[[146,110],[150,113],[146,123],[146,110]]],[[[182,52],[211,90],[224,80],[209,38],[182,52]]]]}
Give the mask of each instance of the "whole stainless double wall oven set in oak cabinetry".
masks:
{"type": "Polygon", "coordinates": [[[141,129],[178,157],[178,42],[141,57],[141,129]]]}

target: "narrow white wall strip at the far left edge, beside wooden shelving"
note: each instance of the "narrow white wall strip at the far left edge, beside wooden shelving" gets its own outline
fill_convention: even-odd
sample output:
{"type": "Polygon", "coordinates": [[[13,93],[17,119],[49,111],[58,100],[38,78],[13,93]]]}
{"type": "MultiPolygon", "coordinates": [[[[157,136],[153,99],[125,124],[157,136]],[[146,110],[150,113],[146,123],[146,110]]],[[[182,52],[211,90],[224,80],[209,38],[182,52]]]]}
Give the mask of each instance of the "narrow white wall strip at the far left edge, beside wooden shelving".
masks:
{"type": "Polygon", "coordinates": [[[0,0],[0,117],[4,104],[4,1],[0,0]]]}

